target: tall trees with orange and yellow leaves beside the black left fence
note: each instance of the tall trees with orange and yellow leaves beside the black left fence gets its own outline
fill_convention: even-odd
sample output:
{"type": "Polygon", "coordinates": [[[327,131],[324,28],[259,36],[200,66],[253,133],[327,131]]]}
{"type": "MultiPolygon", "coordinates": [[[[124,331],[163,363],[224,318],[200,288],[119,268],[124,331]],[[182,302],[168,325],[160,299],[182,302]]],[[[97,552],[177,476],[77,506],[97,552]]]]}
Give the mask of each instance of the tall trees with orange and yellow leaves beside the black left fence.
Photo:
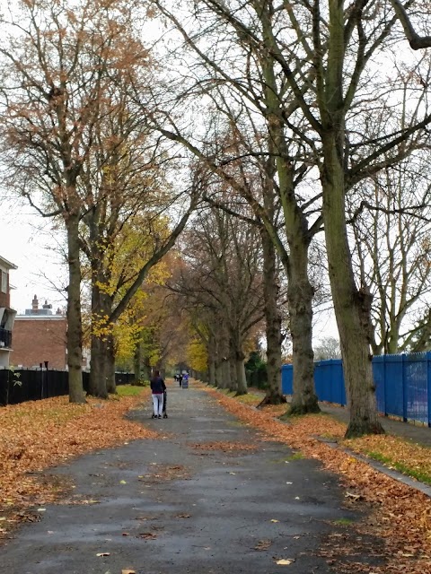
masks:
{"type": "MultiPolygon", "coordinates": [[[[163,148],[129,86],[154,63],[137,2],[16,2],[2,14],[2,176],[66,233],[70,399],[83,402],[82,288],[91,291],[93,395],[113,385],[114,326],[196,204],[172,187],[163,148]],[[180,202],[180,203],[179,203],[180,202]],[[85,264],[85,265],[84,265],[85,264]]],[[[181,169],[180,161],[176,169],[181,169]]]]}

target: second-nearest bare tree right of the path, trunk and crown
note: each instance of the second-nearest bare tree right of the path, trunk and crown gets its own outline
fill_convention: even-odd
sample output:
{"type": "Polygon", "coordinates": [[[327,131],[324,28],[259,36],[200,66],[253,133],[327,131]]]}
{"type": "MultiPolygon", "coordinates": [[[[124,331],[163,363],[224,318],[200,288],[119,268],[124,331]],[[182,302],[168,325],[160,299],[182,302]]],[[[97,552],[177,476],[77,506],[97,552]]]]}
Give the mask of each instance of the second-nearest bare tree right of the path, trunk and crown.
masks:
{"type": "MultiPolygon", "coordinates": [[[[307,148],[308,144],[287,135],[286,123],[290,129],[303,120],[296,113],[295,96],[292,98],[286,91],[286,79],[279,74],[276,59],[265,46],[270,25],[268,15],[258,9],[255,13],[247,12],[247,25],[259,35],[259,39],[251,41],[241,27],[232,25],[227,12],[217,11],[214,5],[209,12],[207,9],[195,11],[192,24],[186,30],[162,2],[156,4],[180,30],[191,53],[200,58],[190,65],[192,78],[185,90],[186,97],[189,100],[190,93],[202,93],[211,98],[210,109],[216,110],[218,119],[212,119],[214,113],[208,116],[211,117],[208,133],[202,140],[189,135],[188,129],[180,126],[173,114],[165,112],[155,118],[155,123],[163,135],[195,153],[226,186],[251,205],[277,249],[288,277],[290,333],[294,345],[294,396],[290,412],[318,412],[312,364],[314,291],[308,278],[308,249],[313,235],[321,229],[316,209],[321,196],[316,187],[309,187],[305,192],[305,186],[301,194],[295,194],[312,165],[312,150],[307,148]],[[211,11],[213,14],[208,17],[211,11]],[[234,57],[225,58],[226,46],[234,57]],[[221,135],[220,126],[227,126],[228,137],[221,135]],[[255,173],[266,174],[259,176],[261,187],[250,182],[253,161],[255,173]],[[245,166],[241,167],[241,163],[245,166]],[[279,225],[273,218],[275,208],[281,214],[279,225]]],[[[312,65],[306,67],[304,74],[312,76],[312,65]]],[[[180,87],[184,93],[182,83],[180,87]]]]}

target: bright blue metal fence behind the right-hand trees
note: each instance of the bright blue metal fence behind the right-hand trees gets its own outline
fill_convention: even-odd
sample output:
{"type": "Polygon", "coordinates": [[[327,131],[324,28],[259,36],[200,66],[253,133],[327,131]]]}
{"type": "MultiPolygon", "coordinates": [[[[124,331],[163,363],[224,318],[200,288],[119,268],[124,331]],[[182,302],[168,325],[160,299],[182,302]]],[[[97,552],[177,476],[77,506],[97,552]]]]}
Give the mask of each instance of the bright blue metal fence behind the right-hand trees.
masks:
{"type": "MultiPolygon", "coordinates": [[[[379,412],[431,427],[431,352],[375,356],[373,374],[379,412]]],[[[293,377],[293,366],[283,365],[284,395],[292,395],[293,377]]],[[[315,362],[314,384],[320,401],[347,403],[341,360],[315,362]]]]}

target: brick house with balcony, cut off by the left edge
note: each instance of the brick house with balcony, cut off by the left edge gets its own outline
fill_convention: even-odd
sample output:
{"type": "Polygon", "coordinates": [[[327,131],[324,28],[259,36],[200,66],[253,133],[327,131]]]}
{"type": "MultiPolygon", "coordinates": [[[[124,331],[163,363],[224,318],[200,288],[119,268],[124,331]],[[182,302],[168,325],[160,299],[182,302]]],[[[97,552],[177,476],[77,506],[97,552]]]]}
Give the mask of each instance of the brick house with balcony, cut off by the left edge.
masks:
{"type": "Polygon", "coordinates": [[[0,257],[0,367],[9,366],[12,350],[12,329],[16,311],[11,309],[11,289],[9,272],[17,269],[4,257],[0,257]]]}

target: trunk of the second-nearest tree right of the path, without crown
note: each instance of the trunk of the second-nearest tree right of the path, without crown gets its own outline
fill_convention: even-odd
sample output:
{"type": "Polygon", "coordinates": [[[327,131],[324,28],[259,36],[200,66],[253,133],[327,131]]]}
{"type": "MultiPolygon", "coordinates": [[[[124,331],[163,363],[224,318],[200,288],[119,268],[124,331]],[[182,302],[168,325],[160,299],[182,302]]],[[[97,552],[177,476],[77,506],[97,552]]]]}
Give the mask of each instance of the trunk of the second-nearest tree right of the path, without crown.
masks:
{"type": "MultiPolygon", "coordinates": [[[[274,46],[272,18],[268,8],[259,13],[263,36],[271,48],[274,46]]],[[[288,281],[287,300],[290,314],[290,330],[293,343],[294,395],[288,413],[318,413],[320,411],[314,392],[312,352],[312,285],[308,280],[308,248],[312,239],[306,215],[295,196],[295,169],[290,161],[286,142],[283,109],[277,96],[277,80],[274,58],[262,61],[266,81],[266,103],[268,123],[268,149],[275,154],[279,195],[283,209],[286,239],[289,253],[282,242],[276,247],[286,271],[288,281]]],[[[268,208],[267,208],[268,209],[268,208]]],[[[274,231],[271,231],[274,235],[274,231]]],[[[274,240],[274,238],[273,238],[274,240]]],[[[281,365],[280,365],[281,366],[281,365]]],[[[281,394],[281,393],[280,393],[281,394]]]]}

